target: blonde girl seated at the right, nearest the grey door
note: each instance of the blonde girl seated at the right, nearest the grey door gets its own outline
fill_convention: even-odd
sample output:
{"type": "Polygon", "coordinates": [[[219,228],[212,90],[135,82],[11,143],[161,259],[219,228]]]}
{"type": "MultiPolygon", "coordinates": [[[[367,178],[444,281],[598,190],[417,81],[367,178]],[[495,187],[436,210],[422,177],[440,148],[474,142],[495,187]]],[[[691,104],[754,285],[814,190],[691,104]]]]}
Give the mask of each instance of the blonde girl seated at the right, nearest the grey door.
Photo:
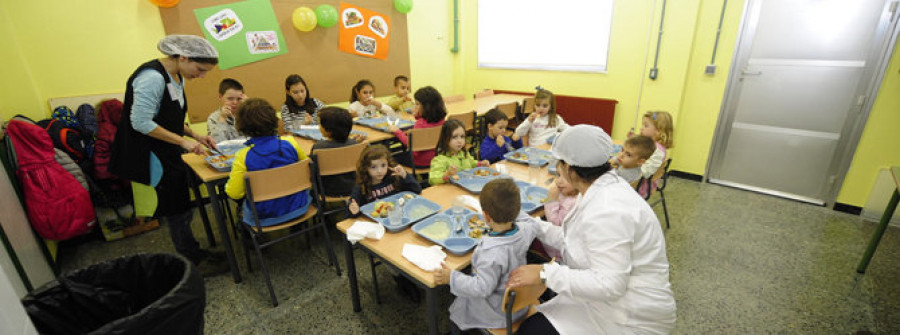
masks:
{"type": "MultiPolygon", "coordinates": [[[[672,132],[673,132],[672,115],[665,111],[655,111],[644,113],[641,135],[647,136],[656,142],[656,150],[650,155],[650,158],[641,165],[641,177],[650,179],[657,170],[666,161],[666,149],[672,148],[672,132]]],[[[644,183],[645,187],[641,187],[638,193],[642,197],[647,197],[651,189],[656,189],[658,181],[653,183],[644,183]]]]}

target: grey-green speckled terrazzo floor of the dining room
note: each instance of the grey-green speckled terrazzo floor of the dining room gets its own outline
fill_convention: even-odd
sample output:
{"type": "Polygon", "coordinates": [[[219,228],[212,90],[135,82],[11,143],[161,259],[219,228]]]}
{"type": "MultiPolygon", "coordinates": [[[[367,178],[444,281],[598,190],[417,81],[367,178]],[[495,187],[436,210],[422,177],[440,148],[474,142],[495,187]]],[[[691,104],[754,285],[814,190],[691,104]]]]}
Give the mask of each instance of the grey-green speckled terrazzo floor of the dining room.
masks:
{"type": "MultiPolygon", "coordinates": [[[[888,229],[868,272],[858,275],[856,265],[875,227],[858,216],[678,178],[671,178],[666,199],[670,280],[678,304],[674,333],[900,333],[897,228],[888,229]]],[[[661,206],[655,209],[662,218],[661,206]]],[[[193,227],[207,246],[199,215],[193,227]]],[[[172,252],[166,229],[115,242],[64,244],[62,269],[137,252],[172,252]]],[[[363,310],[352,311],[343,237],[332,230],[341,277],[328,265],[321,236],[313,236],[311,245],[300,237],[264,252],[280,303],[275,308],[255,258],[255,271],[248,273],[236,243],[244,280],[206,279],[206,333],[426,333],[424,299],[415,303],[401,294],[384,267],[377,269],[382,303],[375,303],[368,260],[359,251],[363,310]]],[[[446,311],[449,290],[439,297],[439,309],[446,311]]],[[[449,321],[442,314],[443,333],[449,321]]]]}

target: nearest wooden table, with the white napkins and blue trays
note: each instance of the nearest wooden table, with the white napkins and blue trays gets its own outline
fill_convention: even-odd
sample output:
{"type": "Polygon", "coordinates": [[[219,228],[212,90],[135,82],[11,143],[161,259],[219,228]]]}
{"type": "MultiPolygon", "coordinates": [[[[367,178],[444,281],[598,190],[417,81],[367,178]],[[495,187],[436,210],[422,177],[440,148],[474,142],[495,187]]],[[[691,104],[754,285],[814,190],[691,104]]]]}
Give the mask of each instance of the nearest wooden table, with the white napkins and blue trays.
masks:
{"type": "MultiPolygon", "coordinates": [[[[501,161],[502,162],[502,161],[501,161]]],[[[502,162],[506,166],[507,174],[518,180],[528,180],[528,165],[513,162],[502,162]]],[[[496,167],[496,164],[494,164],[496,167]]],[[[547,168],[541,168],[538,177],[538,184],[542,187],[548,187],[549,179],[547,168]]],[[[448,209],[451,206],[453,198],[459,195],[473,195],[468,191],[453,184],[443,184],[426,188],[422,191],[422,197],[434,201],[441,205],[441,210],[448,209]]],[[[477,197],[477,195],[473,195],[477,197]]],[[[532,215],[539,216],[543,211],[538,211],[532,215]]],[[[337,224],[338,230],[346,234],[347,230],[357,220],[371,220],[365,216],[359,218],[346,219],[337,224]]],[[[428,333],[438,333],[438,310],[437,310],[437,290],[438,285],[434,283],[434,276],[431,272],[426,272],[408,261],[402,255],[404,244],[416,244],[421,246],[435,245],[431,241],[414,233],[412,229],[404,229],[400,232],[385,232],[381,240],[363,239],[354,246],[349,241],[345,241],[345,259],[347,262],[347,275],[350,279],[350,296],[353,301],[353,311],[362,311],[359,302],[359,286],[356,278],[356,261],[353,258],[353,248],[356,247],[369,254],[375,255],[384,260],[383,264],[387,264],[398,270],[403,276],[409,278],[417,286],[425,290],[426,320],[428,323],[428,333]]],[[[447,267],[453,270],[465,269],[472,261],[472,253],[463,256],[454,256],[447,254],[447,267]]]]}

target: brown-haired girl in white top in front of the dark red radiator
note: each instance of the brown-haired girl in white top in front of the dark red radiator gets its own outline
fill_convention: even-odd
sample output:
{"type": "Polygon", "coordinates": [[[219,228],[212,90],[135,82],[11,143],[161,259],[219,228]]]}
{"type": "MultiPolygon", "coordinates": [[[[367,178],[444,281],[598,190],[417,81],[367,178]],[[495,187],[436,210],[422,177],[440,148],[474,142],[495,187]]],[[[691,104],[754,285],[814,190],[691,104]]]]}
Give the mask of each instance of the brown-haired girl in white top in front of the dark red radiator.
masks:
{"type": "Polygon", "coordinates": [[[528,138],[528,146],[536,147],[547,143],[550,136],[569,128],[556,111],[556,97],[553,92],[538,87],[534,94],[534,112],[516,127],[516,135],[528,138]]]}

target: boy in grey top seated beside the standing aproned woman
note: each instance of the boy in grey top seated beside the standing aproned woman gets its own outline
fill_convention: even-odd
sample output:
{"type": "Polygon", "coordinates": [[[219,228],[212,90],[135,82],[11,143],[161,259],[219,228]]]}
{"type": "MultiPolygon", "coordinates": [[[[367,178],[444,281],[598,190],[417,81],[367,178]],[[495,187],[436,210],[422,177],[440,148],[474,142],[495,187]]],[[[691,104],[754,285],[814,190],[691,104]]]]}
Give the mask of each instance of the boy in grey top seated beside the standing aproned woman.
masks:
{"type": "Polygon", "coordinates": [[[244,99],[247,96],[241,83],[231,78],[222,79],[219,83],[219,102],[222,106],[206,118],[206,130],[217,143],[244,137],[234,128],[234,114],[244,99]]]}

